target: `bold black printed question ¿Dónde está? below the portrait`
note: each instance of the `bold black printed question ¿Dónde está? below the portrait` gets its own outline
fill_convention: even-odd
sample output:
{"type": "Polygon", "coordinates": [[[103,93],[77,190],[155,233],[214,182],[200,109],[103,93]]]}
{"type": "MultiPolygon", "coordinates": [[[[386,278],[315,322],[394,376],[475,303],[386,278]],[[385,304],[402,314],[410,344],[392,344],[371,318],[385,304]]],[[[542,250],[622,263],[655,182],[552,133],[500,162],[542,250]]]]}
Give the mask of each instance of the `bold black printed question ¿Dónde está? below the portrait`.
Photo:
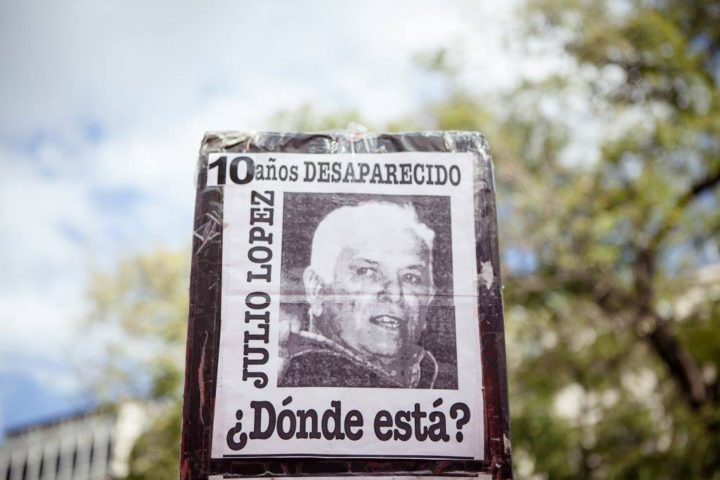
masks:
{"type": "MultiPolygon", "coordinates": [[[[291,402],[292,397],[287,397],[282,406],[288,407],[291,402]]],[[[432,404],[435,410],[430,412],[422,409],[419,403],[415,403],[410,410],[380,410],[375,414],[372,431],[381,441],[406,442],[414,438],[420,442],[449,442],[448,414],[440,409],[442,405],[442,398],[438,398],[432,404]]],[[[273,436],[282,440],[356,441],[365,434],[362,413],[358,410],[344,411],[339,400],[331,401],[330,408],[322,412],[292,408],[277,411],[272,402],[264,400],[250,402],[250,408],[252,419],[244,422],[243,411],[237,410],[237,423],[227,432],[227,444],[232,450],[242,450],[249,440],[267,440],[273,436]],[[252,423],[252,430],[244,431],[244,423],[252,423]]],[[[455,440],[462,442],[461,430],[470,421],[470,409],[464,403],[454,403],[450,407],[449,417],[454,421],[455,440]]]]}

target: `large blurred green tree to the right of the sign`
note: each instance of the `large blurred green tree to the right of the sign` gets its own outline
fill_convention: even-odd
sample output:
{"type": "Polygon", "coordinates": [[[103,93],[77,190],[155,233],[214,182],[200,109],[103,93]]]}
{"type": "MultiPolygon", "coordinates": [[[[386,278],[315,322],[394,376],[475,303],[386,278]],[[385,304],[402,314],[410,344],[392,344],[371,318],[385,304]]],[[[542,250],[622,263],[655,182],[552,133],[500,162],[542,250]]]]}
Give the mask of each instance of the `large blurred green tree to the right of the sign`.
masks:
{"type": "Polygon", "coordinates": [[[491,139],[516,465],[720,478],[720,8],[529,5],[577,68],[514,92],[491,139]],[[582,125],[543,113],[578,96],[595,160],[571,156],[582,125]]]}

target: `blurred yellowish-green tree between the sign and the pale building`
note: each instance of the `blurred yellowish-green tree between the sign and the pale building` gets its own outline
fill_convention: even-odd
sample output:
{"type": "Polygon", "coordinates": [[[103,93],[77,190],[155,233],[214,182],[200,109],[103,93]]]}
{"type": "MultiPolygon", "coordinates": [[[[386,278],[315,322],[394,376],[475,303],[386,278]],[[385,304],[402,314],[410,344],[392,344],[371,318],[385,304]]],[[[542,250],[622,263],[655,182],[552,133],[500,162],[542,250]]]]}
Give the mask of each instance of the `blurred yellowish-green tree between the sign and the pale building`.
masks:
{"type": "Polygon", "coordinates": [[[133,480],[179,475],[189,258],[186,251],[158,250],[96,271],[90,282],[88,325],[108,339],[92,383],[107,401],[149,405],[130,455],[133,480]]]}

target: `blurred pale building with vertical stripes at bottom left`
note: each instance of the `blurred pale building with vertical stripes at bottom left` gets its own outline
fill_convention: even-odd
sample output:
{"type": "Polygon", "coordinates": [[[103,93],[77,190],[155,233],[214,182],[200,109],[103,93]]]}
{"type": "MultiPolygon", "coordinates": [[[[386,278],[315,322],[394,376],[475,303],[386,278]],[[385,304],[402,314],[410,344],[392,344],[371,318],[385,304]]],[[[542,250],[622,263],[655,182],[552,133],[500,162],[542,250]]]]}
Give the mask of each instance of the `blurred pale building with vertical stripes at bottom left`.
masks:
{"type": "Polygon", "coordinates": [[[0,445],[0,480],[123,478],[146,417],[133,402],[9,431],[0,445]]]}

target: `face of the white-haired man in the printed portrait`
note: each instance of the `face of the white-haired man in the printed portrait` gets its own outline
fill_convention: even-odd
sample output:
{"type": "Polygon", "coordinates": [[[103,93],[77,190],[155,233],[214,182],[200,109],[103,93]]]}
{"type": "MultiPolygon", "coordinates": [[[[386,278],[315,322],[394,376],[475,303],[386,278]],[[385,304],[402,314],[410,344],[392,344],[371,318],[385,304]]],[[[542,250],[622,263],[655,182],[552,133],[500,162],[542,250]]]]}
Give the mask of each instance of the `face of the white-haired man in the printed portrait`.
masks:
{"type": "Polygon", "coordinates": [[[425,329],[432,295],[430,252],[415,233],[370,235],[337,258],[321,297],[326,334],[361,356],[398,360],[425,329]]]}

